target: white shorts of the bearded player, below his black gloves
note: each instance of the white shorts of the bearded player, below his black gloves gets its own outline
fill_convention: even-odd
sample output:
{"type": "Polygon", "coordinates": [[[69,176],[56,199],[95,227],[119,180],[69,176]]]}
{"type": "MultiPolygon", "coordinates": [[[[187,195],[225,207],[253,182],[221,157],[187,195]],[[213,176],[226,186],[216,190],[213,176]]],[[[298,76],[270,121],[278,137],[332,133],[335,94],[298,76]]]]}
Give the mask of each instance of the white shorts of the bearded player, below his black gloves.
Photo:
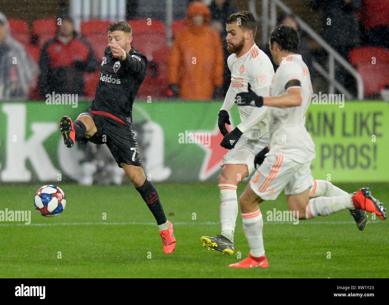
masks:
{"type": "Polygon", "coordinates": [[[249,175],[255,171],[254,158],[269,143],[269,138],[259,138],[258,140],[246,140],[240,138],[233,149],[224,155],[224,164],[245,164],[249,170],[249,175]]]}

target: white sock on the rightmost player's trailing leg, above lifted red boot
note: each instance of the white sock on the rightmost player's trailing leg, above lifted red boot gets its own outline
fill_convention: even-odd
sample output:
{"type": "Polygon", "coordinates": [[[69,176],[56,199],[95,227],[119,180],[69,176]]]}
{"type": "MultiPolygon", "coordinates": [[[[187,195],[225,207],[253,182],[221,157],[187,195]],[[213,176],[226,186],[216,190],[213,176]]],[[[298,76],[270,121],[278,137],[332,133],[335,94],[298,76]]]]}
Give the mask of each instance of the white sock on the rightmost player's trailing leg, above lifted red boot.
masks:
{"type": "Polygon", "coordinates": [[[354,209],[351,196],[312,198],[305,208],[305,218],[326,216],[345,209],[354,209]]]}

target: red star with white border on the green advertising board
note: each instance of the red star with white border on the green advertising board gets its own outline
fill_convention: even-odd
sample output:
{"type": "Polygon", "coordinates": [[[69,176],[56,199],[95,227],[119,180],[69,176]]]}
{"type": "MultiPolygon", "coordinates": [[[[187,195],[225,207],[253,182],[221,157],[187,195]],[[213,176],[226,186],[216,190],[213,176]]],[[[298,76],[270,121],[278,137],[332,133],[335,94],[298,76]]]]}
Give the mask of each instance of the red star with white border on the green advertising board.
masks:
{"type": "MultiPolygon", "coordinates": [[[[231,118],[230,122],[232,124],[231,118]]],[[[230,132],[231,125],[226,124],[226,128],[228,132],[230,132]]],[[[210,138],[208,139],[208,144],[203,143],[202,137],[198,135],[198,133],[209,133],[209,131],[191,131],[197,135],[197,145],[200,145],[205,150],[205,158],[200,170],[199,179],[204,181],[208,179],[212,174],[214,174],[217,170],[221,170],[220,165],[223,163],[223,157],[228,152],[228,149],[221,147],[220,143],[223,140],[223,135],[221,134],[219,127],[210,132],[210,138]]]]}

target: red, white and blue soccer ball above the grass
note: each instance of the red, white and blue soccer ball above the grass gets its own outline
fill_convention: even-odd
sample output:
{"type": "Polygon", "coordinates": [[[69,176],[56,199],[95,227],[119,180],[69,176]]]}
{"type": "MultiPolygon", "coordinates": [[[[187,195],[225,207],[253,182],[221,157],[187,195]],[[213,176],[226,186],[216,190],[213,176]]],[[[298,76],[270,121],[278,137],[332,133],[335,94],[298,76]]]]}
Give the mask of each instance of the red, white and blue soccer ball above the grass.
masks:
{"type": "Polygon", "coordinates": [[[43,216],[57,216],[61,214],[65,206],[65,194],[58,186],[44,185],[35,193],[34,207],[43,216]]]}

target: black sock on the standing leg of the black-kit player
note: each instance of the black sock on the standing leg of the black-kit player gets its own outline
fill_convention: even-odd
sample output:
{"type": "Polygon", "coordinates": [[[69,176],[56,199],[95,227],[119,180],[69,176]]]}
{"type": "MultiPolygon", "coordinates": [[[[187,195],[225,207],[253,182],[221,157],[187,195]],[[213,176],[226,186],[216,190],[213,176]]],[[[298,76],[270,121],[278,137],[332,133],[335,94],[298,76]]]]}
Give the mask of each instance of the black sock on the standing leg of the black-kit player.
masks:
{"type": "Polygon", "coordinates": [[[140,196],[142,196],[145,203],[147,203],[147,207],[149,207],[152,214],[154,215],[157,224],[166,223],[167,220],[165,212],[163,212],[157,190],[154,188],[152,183],[146,179],[142,186],[135,189],[139,192],[140,196]]]}

